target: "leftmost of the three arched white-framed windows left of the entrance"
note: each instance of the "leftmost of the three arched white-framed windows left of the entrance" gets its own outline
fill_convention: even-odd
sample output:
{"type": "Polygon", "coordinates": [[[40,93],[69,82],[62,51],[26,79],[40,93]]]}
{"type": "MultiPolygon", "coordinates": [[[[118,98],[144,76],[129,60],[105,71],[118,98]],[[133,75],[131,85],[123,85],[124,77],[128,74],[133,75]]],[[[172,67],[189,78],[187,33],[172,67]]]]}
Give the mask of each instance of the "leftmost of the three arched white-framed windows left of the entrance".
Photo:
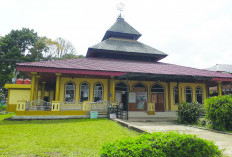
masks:
{"type": "Polygon", "coordinates": [[[68,82],[65,85],[65,102],[74,102],[75,98],[75,85],[72,82],[68,82]]]}

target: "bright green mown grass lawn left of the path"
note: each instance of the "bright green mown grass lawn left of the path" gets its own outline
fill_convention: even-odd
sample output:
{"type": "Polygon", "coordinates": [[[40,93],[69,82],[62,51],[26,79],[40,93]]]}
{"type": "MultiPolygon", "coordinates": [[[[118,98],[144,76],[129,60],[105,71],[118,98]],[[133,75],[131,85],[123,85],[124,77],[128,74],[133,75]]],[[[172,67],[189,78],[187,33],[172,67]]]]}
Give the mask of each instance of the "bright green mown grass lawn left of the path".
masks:
{"type": "Polygon", "coordinates": [[[138,133],[107,119],[3,121],[0,156],[98,156],[102,145],[138,133]]]}

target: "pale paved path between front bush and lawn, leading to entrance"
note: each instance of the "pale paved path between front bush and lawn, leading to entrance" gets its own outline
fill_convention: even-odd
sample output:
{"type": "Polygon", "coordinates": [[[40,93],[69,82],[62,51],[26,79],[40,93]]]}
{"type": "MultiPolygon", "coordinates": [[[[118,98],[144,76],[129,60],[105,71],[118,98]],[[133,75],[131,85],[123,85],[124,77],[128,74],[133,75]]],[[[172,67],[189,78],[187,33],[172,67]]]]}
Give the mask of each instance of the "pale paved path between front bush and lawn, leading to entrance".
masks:
{"type": "Polygon", "coordinates": [[[186,134],[195,134],[201,138],[214,141],[220,149],[225,149],[224,154],[232,157],[232,135],[216,133],[209,130],[198,129],[171,122],[127,122],[129,125],[147,132],[177,130],[186,134]]]}

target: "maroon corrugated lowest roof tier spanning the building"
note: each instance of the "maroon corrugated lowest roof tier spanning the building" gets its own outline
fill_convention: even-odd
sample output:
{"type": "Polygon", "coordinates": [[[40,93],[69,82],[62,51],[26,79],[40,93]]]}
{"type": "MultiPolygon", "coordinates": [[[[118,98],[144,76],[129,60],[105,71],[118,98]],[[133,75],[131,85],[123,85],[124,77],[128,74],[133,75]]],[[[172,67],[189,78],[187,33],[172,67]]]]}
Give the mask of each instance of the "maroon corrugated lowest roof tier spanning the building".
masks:
{"type": "Polygon", "coordinates": [[[56,69],[77,69],[95,71],[113,71],[125,73],[147,73],[163,75],[203,76],[232,78],[231,74],[179,66],[161,62],[139,62],[116,59],[83,58],[32,63],[19,63],[17,66],[49,67],[56,69]]]}

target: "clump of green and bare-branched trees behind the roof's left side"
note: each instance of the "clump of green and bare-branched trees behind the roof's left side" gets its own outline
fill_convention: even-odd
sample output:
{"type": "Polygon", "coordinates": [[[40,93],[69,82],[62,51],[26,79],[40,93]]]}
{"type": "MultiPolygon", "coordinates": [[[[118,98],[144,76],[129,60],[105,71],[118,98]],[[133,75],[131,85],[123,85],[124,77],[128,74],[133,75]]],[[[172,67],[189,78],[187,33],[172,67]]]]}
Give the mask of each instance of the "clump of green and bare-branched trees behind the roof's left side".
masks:
{"type": "Polygon", "coordinates": [[[39,37],[28,28],[12,30],[0,36],[0,90],[16,77],[16,63],[83,57],[75,53],[76,49],[68,40],[39,37]]]}

